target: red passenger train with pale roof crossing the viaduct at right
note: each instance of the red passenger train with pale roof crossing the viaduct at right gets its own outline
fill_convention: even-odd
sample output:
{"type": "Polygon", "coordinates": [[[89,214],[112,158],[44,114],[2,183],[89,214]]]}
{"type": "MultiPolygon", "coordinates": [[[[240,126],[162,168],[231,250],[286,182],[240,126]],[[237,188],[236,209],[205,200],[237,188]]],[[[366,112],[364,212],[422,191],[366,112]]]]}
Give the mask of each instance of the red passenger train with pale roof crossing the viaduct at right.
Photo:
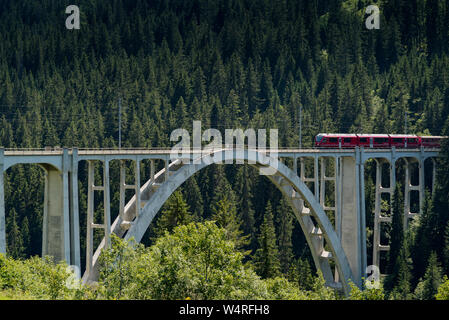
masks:
{"type": "Polygon", "coordinates": [[[320,133],[315,137],[317,148],[440,148],[440,136],[415,136],[404,134],[344,134],[320,133]]]}

